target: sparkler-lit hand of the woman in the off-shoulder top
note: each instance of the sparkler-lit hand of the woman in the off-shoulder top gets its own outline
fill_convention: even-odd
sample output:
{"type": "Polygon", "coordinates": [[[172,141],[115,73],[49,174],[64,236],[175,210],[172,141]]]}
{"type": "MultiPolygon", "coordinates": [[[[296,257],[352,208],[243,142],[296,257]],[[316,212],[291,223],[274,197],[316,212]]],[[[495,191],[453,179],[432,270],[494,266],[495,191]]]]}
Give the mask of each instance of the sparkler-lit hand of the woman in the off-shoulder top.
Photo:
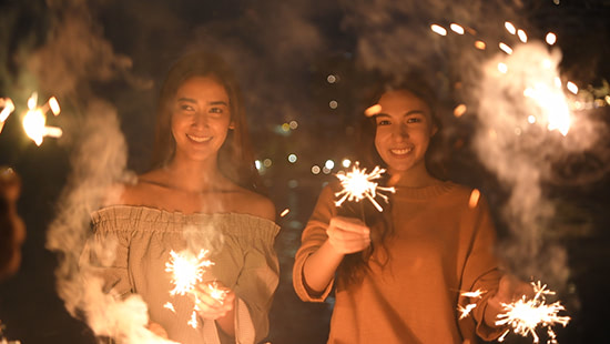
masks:
{"type": "Polygon", "coordinates": [[[199,315],[204,320],[217,320],[232,313],[235,293],[220,282],[202,283],[195,291],[199,315]]]}

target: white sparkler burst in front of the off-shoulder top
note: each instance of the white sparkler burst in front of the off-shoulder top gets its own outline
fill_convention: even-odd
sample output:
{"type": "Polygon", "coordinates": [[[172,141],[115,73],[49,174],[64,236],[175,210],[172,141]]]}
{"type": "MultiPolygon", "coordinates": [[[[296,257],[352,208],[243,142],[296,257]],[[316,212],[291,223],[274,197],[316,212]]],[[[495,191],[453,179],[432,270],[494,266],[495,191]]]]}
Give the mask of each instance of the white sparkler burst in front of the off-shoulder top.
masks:
{"type": "Polygon", "coordinates": [[[177,254],[173,250],[170,252],[170,262],[165,263],[165,271],[172,273],[172,284],[174,289],[170,291],[171,295],[192,294],[195,284],[202,282],[204,267],[214,265],[211,261],[204,260],[207,250],[201,250],[195,256],[193,254],[177,254]]]}

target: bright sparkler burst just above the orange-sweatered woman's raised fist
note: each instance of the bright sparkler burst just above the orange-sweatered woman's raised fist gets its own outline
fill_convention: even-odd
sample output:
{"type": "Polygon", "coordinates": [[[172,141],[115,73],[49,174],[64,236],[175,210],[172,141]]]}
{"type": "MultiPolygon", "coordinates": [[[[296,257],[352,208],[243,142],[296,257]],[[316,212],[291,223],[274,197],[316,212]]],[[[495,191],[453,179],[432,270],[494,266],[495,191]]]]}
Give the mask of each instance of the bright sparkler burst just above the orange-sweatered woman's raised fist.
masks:
{"type": "MultiPolygon", "coordinates": [[[[379,212],[383,212],[384,209],[382,205],[375,201],[377,191],[396,192],[394,188],[378,186],[378,184],[374,182],[374,180],[382,178],[382,174],[386,172],[386,170],[375,166],[375,169],[367,174],[366,169],[359,170],[358,166],[359,163],[356,162],[352,168],[352,172],[336,174],[343,190],[335,193],[335,196],[340,198],[335,202],[335,205],[340,206],[346,200],[359,202],[366,198],[379,212]]],[[[386,203],[389,200],[385,194],[379,193],[379,196],[386,201],[386,203]]]]}

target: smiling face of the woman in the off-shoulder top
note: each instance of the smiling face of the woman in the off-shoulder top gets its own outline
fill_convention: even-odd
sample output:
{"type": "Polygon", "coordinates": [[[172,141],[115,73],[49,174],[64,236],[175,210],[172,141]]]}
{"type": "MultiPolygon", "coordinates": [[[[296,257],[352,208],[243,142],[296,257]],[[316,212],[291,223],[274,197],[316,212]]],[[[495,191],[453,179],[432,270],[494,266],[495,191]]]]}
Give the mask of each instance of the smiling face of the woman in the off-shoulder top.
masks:
{"type": "Polygon", "coordinates": [[[215,163],[233,127],[224,85],[210,77],[186,79],[177,89],[171,109],[174,159],[215,163]]]}

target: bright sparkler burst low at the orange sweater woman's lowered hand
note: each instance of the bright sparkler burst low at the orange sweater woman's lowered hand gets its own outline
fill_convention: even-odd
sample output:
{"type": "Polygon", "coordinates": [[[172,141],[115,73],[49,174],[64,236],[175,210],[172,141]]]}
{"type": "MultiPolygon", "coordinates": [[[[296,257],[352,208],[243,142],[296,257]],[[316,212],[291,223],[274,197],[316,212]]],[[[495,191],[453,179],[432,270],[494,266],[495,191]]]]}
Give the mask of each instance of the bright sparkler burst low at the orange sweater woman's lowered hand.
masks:
{"type": "Polygon", "coordinates": [[[526,300],[523,295],[514,303],[501,304],[506,313],[498,315],[496,325],[510,325],[511,328],[506,330],[498,338],[498,342],[502,342],[512,330],[512,332],[523,337],[531,334],[533,343],[538,343],[540,338],[536,333],[536,328],[541,326],[547,327],[547,333],[549,335],[547,344],[557,343],[552,326],[557,323],[566,326],[570,321],[569,316],[557,315],[560,311],[566,310],[559,301],[551,304],[546,303],[546,295],[555,295],[553,291],[547,290],[547,285],[541,285],[540,281],[537,283],[532,282],[531,284],[533,285],[535,292],[533,299],[526,300]]]}

